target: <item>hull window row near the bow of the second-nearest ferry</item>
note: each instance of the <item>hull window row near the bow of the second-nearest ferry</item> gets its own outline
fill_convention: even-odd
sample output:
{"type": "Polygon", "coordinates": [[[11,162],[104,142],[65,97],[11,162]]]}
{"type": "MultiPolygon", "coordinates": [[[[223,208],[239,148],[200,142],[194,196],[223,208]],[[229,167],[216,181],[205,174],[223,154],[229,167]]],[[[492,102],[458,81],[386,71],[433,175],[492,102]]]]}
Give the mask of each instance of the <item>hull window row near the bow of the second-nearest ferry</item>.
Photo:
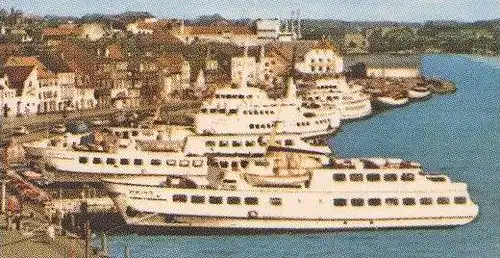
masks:
{"type": "MultiPolygon", "coordinates": [[[[87,164],[89,162],[89,158],[87,157],[79,157],[78,159],[80,164],[87,164]]],[[[116,158],[92,158],[92,164],[107,164],[107,165],[130,165],[133,164],[135,166],[142,166],[144,165],[144,160],[142,159],[126,159],[126,158],[121,158],[121,159],[116,159],[116,158]]],[[[189,167],[190,165],[193,167],[201,167],[203,166],[203,160],[177,160],[175,159],[167,159],[165,162],[163,162],[161,159],[151,159],[149,160],[149,164],[152,166],[161,166],[161,165],[166,165],[166,166],[177,166],[179,165],[180,167],[189,167]]]]}

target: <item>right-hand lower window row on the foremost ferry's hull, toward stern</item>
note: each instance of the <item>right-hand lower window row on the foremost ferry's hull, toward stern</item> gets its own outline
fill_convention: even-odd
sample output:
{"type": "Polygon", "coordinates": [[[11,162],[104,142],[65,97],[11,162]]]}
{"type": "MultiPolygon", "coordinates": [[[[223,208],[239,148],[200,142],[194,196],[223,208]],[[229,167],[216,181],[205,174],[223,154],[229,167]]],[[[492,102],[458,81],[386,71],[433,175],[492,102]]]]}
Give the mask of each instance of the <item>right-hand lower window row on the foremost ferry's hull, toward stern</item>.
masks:
{"type": "MultiPolygon", "coordinates": [[[[426,205],[433,205],[433,204],[438,204],[438,205],[447,205],[451,203],[450,198],[448,197],[437,197],[437,198],[432,198],[432,197],[422,197],[418,199],[418,203],[420,205],[426,206],[426,205]]],[[[453,198],[453,203],[454,204],[466,204],[467,203],[467,197],[465,196],[457,196],[453,198]]],[[[387,205],[387,206],[397,206],[397,205],[404,205],[404,206],[414,206],[417,205],[417,199],[412,198],[412,197],[406,197],[406,198],[352,198],[352,199],[346,199],[346,198],[335,198],[333,199],[333,205],[338,206],[338,207],[343,207],[343,206],[350,206],[353,207],[361,207],[361,206],[381,206],[381,205],[387,205]]]]}

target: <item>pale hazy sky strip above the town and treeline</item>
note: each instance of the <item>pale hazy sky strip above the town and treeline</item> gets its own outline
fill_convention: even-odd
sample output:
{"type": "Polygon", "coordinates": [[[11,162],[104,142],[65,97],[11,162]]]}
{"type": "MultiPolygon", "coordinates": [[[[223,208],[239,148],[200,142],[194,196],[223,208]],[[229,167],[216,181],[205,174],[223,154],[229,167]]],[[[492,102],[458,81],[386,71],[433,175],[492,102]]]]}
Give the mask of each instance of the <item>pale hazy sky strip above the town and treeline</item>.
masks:
{"type": "Polygon", "coordinates": [[[226,18],[290,17],[346,21],[477,21],[500,18],[500,0],[0,0],[38,15],[82,16],[147,11],[160,18],[195,18],[220,13],[226,18]]]}

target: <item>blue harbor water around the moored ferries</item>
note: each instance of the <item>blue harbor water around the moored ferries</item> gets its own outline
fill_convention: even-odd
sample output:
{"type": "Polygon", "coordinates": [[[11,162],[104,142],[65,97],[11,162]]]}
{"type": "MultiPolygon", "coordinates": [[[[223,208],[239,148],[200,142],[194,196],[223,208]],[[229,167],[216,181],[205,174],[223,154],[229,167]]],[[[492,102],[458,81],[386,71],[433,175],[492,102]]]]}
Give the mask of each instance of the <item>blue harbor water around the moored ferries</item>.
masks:
{"type": "Polygon", "coordinates": [[[123,257],[500,257],[500,58],[423,57],[423,74],[456,83],[452,95],[344,124],[337,156],[417,160],[426,171],[467,182],[478,218],[444,229],[256,236],[109,237],[123,257]]]}

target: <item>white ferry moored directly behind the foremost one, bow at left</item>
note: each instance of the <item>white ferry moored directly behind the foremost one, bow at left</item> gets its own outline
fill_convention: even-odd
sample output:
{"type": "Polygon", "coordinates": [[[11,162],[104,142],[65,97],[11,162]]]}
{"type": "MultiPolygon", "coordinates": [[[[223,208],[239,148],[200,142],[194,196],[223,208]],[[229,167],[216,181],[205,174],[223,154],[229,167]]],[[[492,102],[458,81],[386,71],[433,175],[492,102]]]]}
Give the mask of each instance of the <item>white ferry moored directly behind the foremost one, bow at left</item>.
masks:
{"type": "Polygon", "coordinates": [[[300,134],[194,135],[189,128],[166,131],[110,128],[106,133],[68,135],[25,144],[35,167],[53,181],[97,181],[104,176],[204,175],[206,156],[261,157],[272,145],[328,155],[327,146],[312,146],[300,134]],[[101,134],[101,135],[100,135],[101,134]],[[102,134],[112,137],[105,144],[102,134]],[[90,140],[83,140],[83,138],[90,140]],[[111,147],[110,145],[113,145],[111,147]]]}

